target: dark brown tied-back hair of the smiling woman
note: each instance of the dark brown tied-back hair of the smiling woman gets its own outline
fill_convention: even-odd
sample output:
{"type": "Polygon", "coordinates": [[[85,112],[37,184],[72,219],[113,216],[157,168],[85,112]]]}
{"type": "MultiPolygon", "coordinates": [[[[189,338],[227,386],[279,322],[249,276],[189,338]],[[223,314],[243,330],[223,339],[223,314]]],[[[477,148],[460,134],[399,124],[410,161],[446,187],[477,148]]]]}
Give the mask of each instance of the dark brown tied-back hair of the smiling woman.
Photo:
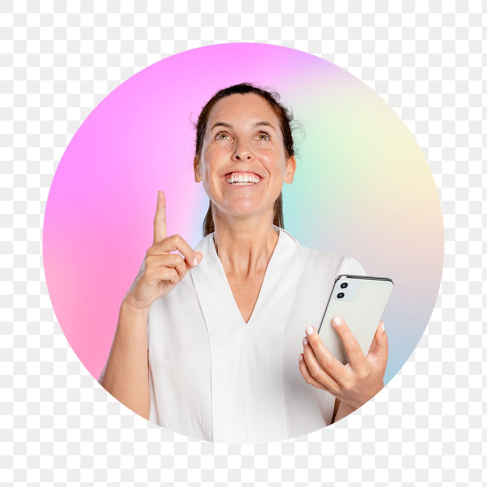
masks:
{"type": "MultiPolygon", "coordinates": [[[[201,149],[203,146],[203,138],[206,133],[206,126],[208,123],[208,115],[218,100],[225,98],[225,96],[230,96],[232,94],[247,94],[253,93],[258,94],[266,100],[277,118],[279,119],[282,139],[284,144],[284,152],[286,160],[295,155],[294,141],[292,131],[296,128],[294,120],[294,115],[291,109],[286,108],[282,105],[279,100],[281,95],[275,91],[266,90],[255,86],[253,83],[239,83],[236,85],[229,86],[218,92],[216,92],[203,107],[195,126],[196,138],[195,138],[195,157],[198,161],[201,160],[201,149]]],[[[276,201],[274,202],[274,221],[273,224],[284,228],[284,216],[282,214],[282,191],[276,201]]],[[[213,214],[211,209],[211,201],[209,203],[208,211],[206,212],[205,220],[203,221],[203,237],[206,237],[209,233],[215,231],[215,225],[213,223],[213,214]]]]}

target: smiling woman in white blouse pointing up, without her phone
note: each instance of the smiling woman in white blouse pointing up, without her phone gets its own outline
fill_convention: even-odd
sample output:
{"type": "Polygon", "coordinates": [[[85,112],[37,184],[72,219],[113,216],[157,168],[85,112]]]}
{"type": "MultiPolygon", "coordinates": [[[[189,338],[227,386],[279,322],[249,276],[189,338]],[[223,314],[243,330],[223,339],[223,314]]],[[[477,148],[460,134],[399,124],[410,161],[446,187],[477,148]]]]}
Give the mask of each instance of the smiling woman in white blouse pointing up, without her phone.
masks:
{"type": "Polygon", "coordinates": [[[153,245],[122,302],[99,379],[133,411],[207,441],[307,434],[384,385],[382,322],[367,357],[347,324],[336,325],[347,365],[313,326],[335,277],[365,271],[284,230],[281,189],[293,181],[296,158],[292,114],[278,100],[241,83],[206,103],[194,157],[195,181],[210,200],[204,238],[193,250],[181,236],[167,237],[159,192],[153,245]]]}

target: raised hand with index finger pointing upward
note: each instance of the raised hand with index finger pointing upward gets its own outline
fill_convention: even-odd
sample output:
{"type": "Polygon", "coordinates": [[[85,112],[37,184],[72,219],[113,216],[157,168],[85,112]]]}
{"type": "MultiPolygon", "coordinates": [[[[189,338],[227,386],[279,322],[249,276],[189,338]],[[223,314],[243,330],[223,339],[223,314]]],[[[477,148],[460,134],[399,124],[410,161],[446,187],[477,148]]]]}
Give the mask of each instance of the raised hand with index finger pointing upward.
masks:
{"type": "Polygon", "coordinates": [[[154,241],[124,301],[139,310],[148,310],[155,300],[172,291],[184,279],[187,271],[202,259],[203,254],[195,252],[181,235],[167,236],[166,195],[159,191],[154,218],[154,241]],[[179,250],[182,255],[171,254],[171,250],[179,250]]]}

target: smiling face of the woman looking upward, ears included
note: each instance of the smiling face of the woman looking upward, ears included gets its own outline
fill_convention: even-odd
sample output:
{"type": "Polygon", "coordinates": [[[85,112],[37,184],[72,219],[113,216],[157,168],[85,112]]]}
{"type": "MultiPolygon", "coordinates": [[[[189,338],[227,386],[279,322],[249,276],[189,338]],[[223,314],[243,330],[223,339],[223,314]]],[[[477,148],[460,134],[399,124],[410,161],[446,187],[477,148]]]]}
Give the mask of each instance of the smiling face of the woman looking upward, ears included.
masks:
{"type": "Polygon", "coordinates": [[[273,208],[283,182],[292,183],[295,170],[296,158],[285,158],[279,120],[261,96],[232,94],[213,106],[201,160],[194,159],[195,181],[203,181],[213,211],[222,216],[265,212],[273,208]],[[235,184],[239,176],[250,184],[235,184]]]}

